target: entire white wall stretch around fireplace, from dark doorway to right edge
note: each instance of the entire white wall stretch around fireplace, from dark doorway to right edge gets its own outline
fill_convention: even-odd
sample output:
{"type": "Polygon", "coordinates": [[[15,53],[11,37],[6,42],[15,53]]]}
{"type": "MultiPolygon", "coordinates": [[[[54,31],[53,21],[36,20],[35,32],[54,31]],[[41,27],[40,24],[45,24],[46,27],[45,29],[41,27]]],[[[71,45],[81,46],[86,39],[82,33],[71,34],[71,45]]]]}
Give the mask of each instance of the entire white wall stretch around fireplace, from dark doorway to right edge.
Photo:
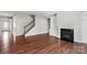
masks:
{"type": "Polygon", "coordinates": [[[61,37],[61,28],[74,29],[74,41],[87,43],[87,12],[59,11],[51,18],[51,35],[61,37]]]}

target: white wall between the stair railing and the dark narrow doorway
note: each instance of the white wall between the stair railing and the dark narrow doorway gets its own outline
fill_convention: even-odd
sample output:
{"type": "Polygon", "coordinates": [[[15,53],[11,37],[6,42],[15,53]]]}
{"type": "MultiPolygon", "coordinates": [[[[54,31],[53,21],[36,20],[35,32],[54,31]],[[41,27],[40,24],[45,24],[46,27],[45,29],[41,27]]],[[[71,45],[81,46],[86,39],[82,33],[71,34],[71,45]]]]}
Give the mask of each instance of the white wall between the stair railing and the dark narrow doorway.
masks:
{"type": "Polygon", "coordinates": [[[45,18],[35,15],[35,26],[26,33],[26,36],[47,32],[48,32],[47,20],[45,18]]]}

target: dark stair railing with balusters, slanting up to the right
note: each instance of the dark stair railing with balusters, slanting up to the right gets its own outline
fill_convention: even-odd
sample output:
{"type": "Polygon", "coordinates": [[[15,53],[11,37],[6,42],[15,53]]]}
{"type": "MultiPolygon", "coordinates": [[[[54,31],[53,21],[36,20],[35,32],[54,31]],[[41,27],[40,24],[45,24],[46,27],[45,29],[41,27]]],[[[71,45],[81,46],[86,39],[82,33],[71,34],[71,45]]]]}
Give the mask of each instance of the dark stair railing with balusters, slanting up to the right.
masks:
{"type": "Polygon", "coordinates": [[[35,15],[31,15],[31,18],[33,20],[24,26],[23,35],[25,35],[32,28],[35,26],[35,15]]]}

